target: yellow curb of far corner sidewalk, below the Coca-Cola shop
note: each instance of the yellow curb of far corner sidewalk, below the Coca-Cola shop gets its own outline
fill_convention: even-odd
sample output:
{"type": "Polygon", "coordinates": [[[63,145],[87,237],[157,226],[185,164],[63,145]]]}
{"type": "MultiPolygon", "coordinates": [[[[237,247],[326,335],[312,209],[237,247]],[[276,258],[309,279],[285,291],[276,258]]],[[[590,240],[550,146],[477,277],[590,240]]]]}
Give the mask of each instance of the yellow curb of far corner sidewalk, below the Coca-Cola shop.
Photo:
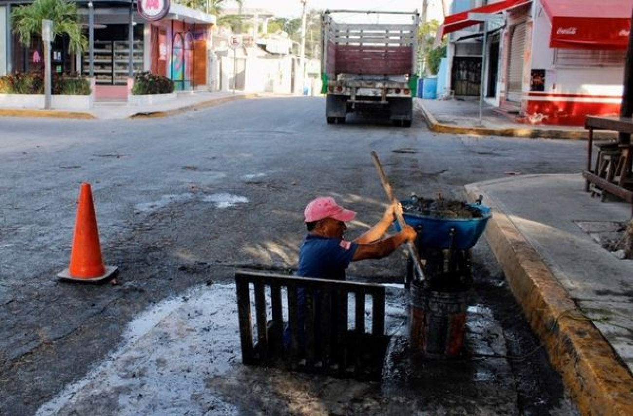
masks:
{"type": "MultiPolygon", "coordinates": [[[[570,131],[556,129],[535,129],[533,127],[506,127],[503,129],[494,129],[492,127],[465,127],[459,125],[448,125],[437,122],[432,113],[427,110],[419,101],[414,101],[415,106],[422,113],[422,118],[427,123],[429,130],[437,133],[447,134],[470,134],[471,136],[504,136],[504,137],[521,137],[525,139],[568,139],[568,140],[586,140],[588,133],[586,131],[570,131]]],[[[610,132],[594,132],[595,139],[613,139],[615,134],[610,132]]]]}

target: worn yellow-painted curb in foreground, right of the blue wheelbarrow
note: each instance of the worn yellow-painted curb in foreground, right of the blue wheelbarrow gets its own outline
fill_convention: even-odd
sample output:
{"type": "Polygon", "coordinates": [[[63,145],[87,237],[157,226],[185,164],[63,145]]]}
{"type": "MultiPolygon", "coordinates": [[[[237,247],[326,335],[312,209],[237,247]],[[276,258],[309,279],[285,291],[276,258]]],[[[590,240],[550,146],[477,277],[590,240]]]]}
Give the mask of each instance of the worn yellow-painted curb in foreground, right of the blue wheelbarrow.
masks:
{"type": "Polygon", "coordinates": [[[633,415],[633,375],[500,209],[501,205],[480,189],[480,184],[490,182],[496,181],[468,184],[468,198],[475,200],[482,195],[484,205],[492,208],[486,239],[579,412],[633,415]]]}

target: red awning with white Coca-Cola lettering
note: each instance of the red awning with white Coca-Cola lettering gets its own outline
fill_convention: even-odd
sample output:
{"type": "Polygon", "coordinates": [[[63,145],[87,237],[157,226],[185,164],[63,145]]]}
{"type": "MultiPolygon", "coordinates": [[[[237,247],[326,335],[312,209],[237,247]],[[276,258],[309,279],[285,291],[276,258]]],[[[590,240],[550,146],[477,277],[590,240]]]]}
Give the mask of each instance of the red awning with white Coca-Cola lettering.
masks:
{"type": "Polygon", "coordinates": [[[633,0],[541,0],[552,25],[549,47],[626,49],[633,0]]]}

